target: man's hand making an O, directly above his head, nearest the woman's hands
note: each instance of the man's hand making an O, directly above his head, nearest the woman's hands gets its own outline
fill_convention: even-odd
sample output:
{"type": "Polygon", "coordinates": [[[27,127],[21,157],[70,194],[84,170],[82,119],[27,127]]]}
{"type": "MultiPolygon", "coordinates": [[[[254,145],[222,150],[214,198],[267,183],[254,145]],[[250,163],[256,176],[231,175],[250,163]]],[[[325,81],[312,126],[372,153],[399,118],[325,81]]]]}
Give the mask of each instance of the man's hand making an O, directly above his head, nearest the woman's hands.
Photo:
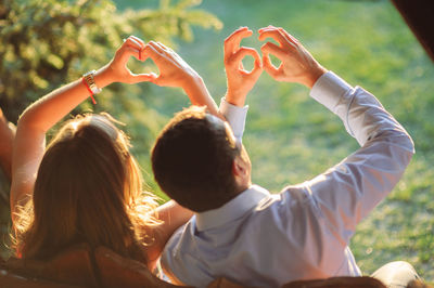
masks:
{"type": "Polygon", "coordinates": [[[252,34],[253,31],[247,27],[242,27],[225,40],[225,68],[228,78],[226,101],[235,106],[244,106],[247,93],[263,73],[258,52],[253,48],[240,48],[241,40],[252,36],[252,34]],[[252,71],[246,71],[242,63],[242,60],[248,55],[255,60],[252,71]]]}

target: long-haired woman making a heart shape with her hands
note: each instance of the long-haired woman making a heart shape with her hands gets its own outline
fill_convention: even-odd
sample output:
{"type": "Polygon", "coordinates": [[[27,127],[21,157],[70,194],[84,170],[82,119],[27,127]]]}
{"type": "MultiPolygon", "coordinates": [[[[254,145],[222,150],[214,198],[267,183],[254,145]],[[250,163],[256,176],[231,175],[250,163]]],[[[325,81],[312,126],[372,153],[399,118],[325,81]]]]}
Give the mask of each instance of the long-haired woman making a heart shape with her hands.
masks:
{"type": "Polygon", "coordinates": [[[180,87],[192,104],[218,115],[187,63],[162,43],[144,44],[133,36],[107,65],[31,104],[18,120],[12,161],[11,217],[18,257],[47,260],[87,243],[153,270],[168,237],[191,217],[173,201],[156,208],[154,197],[142,194],[128,139],[107,115],[69,120],[46,148],[46,133],[99,89],[142,81],[180,87]],[[131,56],[151,57],[159,76],[132,74],[126,66],[131,56]]]}

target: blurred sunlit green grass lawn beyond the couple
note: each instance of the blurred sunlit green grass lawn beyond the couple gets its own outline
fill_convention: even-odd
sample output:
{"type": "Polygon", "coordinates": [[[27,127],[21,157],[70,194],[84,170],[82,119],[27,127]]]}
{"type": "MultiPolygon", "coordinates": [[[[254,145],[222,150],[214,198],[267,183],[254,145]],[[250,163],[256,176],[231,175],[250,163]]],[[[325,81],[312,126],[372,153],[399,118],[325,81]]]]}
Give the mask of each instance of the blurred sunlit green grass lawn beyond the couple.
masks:
{"type": "MultiPolygon", "coordinates": [[[[118,2],[120,9],[156,6],[156,1],[118,2]]],[[[434,67],[393,5],[388,1],[208,0],[201,8],[222,21],[222,30],[196,29],[194,41],[179,42],[177,51],[201,74],[216,101],[226,91],[224,39],[239,26],[256,30],[272,24],[297,37],[323,66],[375,94],[404,125],[417,154],[397,187],[359,224],[350,247],[366,274],[388,261],[406,260],[433,282],[434,67]]],[[[243,44],[258,49],[256,37],[243,44]]],[[[153,88],[153,92],[149,105],[167,119],[188,105],[179,91],[153,88]]],[[[358,147],[342,122],[308,92],[264,74],[248,96],[244,144],[253,180],[273,192],[314,178],[358,147]]],[[[146,157],[140,157],[145,169],[146,157]]]]}

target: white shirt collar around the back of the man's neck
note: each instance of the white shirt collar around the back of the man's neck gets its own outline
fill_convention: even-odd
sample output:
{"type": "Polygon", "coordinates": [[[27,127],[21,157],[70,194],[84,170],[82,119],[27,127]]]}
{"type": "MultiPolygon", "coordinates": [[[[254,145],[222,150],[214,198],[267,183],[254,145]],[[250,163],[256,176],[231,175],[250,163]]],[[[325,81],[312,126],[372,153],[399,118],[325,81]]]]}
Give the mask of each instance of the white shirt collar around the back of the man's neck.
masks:
{"type": "Polygon", "coordinates": [[[196,213],[196,227],[199,231],[205,231],[237,220],[252,208],[258,206],[263,199],[268,199],[269,197],[270,193],[268,191],[257,185],[252,185],[220,208],[196,213]]]}

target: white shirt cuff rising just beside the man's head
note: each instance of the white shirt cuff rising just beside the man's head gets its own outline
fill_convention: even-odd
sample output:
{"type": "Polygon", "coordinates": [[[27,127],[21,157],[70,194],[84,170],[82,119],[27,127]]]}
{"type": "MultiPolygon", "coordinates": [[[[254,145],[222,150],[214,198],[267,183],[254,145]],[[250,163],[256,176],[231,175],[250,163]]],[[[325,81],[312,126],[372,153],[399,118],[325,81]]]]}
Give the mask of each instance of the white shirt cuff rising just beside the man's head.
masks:
{"type": "Polygon", "coordinates": [[[245,119],[247,118],[248,105],[239,107],[230,104],[225,97],[220,101],[220,113],[225,116],[229,126],[232,128],[233,135],[238,141],[241,141],[245,128],[245,119]]]}

